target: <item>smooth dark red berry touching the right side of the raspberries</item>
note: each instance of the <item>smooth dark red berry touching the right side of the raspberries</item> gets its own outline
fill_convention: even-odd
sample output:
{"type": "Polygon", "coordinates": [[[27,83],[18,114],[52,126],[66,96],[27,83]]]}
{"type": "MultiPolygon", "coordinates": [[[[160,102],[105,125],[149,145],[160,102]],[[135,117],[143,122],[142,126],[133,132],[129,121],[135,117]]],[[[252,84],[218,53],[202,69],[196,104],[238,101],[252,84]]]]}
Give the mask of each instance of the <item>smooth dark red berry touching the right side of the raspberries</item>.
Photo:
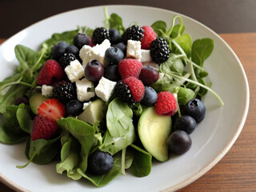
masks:
{"type": "Polygon", "coordinates": [[[158,81],[159,73],[153,66],[143,66],[138,78],[142,80],[146,86],[150,86],[152,83],[158,81]]]}

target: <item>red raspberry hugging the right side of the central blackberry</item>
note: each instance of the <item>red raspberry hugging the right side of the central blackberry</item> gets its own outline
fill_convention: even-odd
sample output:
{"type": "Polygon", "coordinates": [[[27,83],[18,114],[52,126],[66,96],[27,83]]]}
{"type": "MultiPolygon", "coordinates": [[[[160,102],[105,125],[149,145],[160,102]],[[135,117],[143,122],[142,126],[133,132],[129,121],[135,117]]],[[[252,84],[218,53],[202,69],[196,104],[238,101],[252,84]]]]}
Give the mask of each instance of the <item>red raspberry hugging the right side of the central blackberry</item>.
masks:
{"type": "Polygon", "coordinates": [[[138,78],[129,77],[122,80],[128,87],[134,102],[140,102],[145,94],[145,87],[138,78]]]}

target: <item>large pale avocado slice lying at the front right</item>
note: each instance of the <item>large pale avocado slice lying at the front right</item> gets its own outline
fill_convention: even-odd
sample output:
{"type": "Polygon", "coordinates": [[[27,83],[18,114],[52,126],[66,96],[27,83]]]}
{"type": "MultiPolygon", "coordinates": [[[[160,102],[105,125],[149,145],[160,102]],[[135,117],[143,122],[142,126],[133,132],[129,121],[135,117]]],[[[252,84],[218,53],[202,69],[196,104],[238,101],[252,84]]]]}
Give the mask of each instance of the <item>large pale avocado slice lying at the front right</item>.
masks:
{"type": "Polygon", "coordinates": [[[138,137],[145,149],[160,162],[169,159],[166,141],[170,132],[170,116],[156,114],[153,106],[143,111],[138,120],[138,137]]]}

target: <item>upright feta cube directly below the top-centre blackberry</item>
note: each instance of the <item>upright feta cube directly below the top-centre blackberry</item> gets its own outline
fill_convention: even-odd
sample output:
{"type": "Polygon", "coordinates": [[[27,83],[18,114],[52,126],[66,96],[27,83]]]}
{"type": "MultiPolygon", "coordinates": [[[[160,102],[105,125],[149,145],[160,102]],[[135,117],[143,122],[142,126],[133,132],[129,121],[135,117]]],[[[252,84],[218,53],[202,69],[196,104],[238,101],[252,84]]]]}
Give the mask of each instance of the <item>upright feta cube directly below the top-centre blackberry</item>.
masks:
{"type": "Polygon", "coordinates": [[[126,48],[127,58],[137,58],[139,61],[142,58],[141,42],[128,40],[126,48]]]}

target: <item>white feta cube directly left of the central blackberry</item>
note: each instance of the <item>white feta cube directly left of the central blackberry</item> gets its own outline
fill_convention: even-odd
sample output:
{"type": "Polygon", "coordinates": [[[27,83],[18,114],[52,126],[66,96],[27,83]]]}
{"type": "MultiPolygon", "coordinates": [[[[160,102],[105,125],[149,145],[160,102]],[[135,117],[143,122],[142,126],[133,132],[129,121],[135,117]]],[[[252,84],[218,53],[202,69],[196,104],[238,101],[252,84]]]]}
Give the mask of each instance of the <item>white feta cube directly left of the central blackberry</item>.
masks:
{"type": "Polygon", "coordinates": [[[98,82],[98,86],[95,88],[96,95],[99,98],[102,98],[104,102],[107,102],[113,93],[116,83],[117,82],[112,82],[109,79],[102,77],[98,82]]]}

